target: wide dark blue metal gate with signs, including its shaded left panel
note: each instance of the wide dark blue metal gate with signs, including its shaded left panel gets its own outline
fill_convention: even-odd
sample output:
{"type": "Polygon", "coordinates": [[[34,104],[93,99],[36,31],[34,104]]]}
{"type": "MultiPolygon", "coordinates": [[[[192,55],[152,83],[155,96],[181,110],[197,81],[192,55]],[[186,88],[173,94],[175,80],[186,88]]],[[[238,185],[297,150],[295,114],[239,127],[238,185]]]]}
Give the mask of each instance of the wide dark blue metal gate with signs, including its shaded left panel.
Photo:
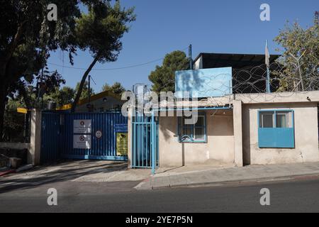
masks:
{"type": "Polygon", "coordinates": [[[128,118],[121,112],[43,111],[40,163],[59,158],[128,159],[128,118]]]}

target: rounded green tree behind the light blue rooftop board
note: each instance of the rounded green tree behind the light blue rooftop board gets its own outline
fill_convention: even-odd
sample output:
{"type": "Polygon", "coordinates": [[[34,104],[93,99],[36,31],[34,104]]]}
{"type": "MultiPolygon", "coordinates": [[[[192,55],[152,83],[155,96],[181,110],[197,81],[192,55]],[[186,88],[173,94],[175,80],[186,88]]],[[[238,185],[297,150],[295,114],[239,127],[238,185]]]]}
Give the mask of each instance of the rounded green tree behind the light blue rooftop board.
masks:
{"type": "Polygon", "coordinates": [[[189,70],[189,59],[182,51],[176,50],[165,55],[162,66],[150,73],[148,79],[152,82],[154,92],[175,91],[175,71],[189,70]]]}

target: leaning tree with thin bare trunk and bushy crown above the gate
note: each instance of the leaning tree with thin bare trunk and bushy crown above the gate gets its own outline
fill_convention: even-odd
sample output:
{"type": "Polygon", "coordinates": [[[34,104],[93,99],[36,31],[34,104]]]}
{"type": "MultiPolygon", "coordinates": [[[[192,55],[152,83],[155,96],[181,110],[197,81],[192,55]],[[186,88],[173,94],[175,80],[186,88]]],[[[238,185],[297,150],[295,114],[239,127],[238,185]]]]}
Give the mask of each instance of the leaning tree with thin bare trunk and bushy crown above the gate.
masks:
{"type": "Polygon", "coordinates": [[[89,5],[89,12],[77,20],[75,37],[81,50],[89,50],[93,61],[82,76],[77,95],[72,104],[74,111],[82,89],[96,62],[114,62],[122,49],[121,38],[129,31],[128,23],[135,21],[134,9],[122,9],[119,1],[112,6],[108,1],[89,5]]]}

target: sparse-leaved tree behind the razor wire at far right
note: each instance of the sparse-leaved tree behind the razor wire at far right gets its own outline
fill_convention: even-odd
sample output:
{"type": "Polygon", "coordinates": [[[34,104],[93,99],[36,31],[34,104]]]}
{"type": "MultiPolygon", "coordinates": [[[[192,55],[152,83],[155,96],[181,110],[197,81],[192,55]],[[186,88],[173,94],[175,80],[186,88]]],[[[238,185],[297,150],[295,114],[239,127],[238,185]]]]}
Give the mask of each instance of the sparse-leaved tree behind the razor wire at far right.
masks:
{"type": "Polygon", "coordinates": [[[274,72],[279,77],[279,91],[318,90],[319,12],[306,29],[298,23],[287,23],[274,41],[284,48],[278,60],[284,70],[274,72]]]}

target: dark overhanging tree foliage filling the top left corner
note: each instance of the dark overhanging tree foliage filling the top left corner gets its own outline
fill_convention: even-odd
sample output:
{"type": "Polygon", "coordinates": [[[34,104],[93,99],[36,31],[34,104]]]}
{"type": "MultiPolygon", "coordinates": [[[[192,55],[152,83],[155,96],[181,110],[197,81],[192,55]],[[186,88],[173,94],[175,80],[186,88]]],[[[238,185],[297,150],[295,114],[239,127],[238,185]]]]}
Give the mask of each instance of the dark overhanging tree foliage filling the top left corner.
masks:
{"type": "Polygon", "coordinates": [[[16,92],[11,89],[13,85],[24,80],[31,83],[45,67],[51,50],[66,50],[72,60],[73,30],[80,11],[77,0],[15,0],[1,1],[0,5],[0,131],[3,131],[5,100],[9,93],[16,92]],[[47,21],[50,3],[57,4],[57,21],[47,21]]]}

